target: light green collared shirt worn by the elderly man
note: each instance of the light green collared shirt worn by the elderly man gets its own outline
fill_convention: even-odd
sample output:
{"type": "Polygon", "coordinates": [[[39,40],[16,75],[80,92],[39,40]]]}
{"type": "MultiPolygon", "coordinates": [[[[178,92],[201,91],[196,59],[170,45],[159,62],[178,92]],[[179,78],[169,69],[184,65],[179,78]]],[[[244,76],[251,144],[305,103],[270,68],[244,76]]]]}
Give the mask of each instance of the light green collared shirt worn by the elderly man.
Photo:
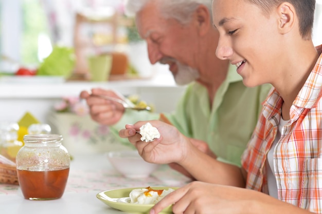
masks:
{"type": "MultiPolygon", "coordinates": [[[[207,89],[194,82],[188,85],[176,110],[165,115],[187,137],[207,142],[218,160],[240,166],[241,154],[251,138],[261,103],[270,89],[271,85],[245,87],[236,68],[230,66],[212,109],[207,89]]],[[[156,113],[127,111],[113,127],[119,130],[125,124],[158,118],[156,113]]]]}

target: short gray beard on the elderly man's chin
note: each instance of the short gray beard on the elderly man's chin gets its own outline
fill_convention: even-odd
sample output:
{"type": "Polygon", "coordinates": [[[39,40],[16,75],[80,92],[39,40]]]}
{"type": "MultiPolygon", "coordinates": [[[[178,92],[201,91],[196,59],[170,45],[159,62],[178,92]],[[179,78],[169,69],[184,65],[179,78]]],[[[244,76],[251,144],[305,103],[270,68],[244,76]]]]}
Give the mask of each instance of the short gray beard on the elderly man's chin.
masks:
{"type": "Polygon", "coordinates": [[[187,85],[200,77],[198,70],[179,62],[176,62],[176,64],[178,72],[173,74],[173,78],[177,85],[187,85]]]}

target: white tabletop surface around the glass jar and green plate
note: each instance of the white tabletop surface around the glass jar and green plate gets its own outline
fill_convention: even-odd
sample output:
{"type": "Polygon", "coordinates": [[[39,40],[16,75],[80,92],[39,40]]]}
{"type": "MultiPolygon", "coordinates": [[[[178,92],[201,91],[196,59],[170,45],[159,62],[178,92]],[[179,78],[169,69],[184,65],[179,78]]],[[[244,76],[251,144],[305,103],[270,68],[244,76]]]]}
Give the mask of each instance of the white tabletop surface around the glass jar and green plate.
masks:
{"type": "Polygon", "coordinates": [[[23,198],[19,186],[0,184],[0,213],[123,213],[102,203],[96,194],[110,189],[146,186],[183,186],[190,180],[180,173],[161,166],[146,179],[122,177],[104,155],[82,155],[70,164],[69,178],[62,198],[49,201],[29,201],[23,198]]]}

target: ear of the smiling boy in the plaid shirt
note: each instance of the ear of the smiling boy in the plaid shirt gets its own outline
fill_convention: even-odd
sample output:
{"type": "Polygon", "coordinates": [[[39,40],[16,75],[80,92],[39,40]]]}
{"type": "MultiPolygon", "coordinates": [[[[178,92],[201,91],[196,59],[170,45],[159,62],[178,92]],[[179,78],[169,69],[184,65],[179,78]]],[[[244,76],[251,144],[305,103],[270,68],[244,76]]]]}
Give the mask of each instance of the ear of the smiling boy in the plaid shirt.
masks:
{"type": "Polygon", "coordinates": [[[290,32],[296,21],[296,12],[292,4],[283,2],[278,6],[278,17],[279,17],[279,32],[282,34],[290,32]]]}

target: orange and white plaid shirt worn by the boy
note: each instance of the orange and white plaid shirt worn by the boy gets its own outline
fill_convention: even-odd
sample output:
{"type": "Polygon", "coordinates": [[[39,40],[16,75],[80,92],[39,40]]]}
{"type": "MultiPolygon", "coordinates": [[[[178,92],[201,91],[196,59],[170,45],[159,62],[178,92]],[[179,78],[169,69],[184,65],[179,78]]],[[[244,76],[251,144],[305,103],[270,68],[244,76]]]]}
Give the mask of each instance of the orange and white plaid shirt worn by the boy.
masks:
{"type": "MultiPolygon", "coordinates": [[[[317,47],[320,52],[322,45],[317,47]]],[[[290,110],[291,120],[282,128],[274,149],[278,199],[322,213],[322,54],[290,110]]],[[[267,152],[276,137],[283,100],[273,89],[252,139],[242,155],[247,171],[246,188],[268,193],[267,152]]]]}

